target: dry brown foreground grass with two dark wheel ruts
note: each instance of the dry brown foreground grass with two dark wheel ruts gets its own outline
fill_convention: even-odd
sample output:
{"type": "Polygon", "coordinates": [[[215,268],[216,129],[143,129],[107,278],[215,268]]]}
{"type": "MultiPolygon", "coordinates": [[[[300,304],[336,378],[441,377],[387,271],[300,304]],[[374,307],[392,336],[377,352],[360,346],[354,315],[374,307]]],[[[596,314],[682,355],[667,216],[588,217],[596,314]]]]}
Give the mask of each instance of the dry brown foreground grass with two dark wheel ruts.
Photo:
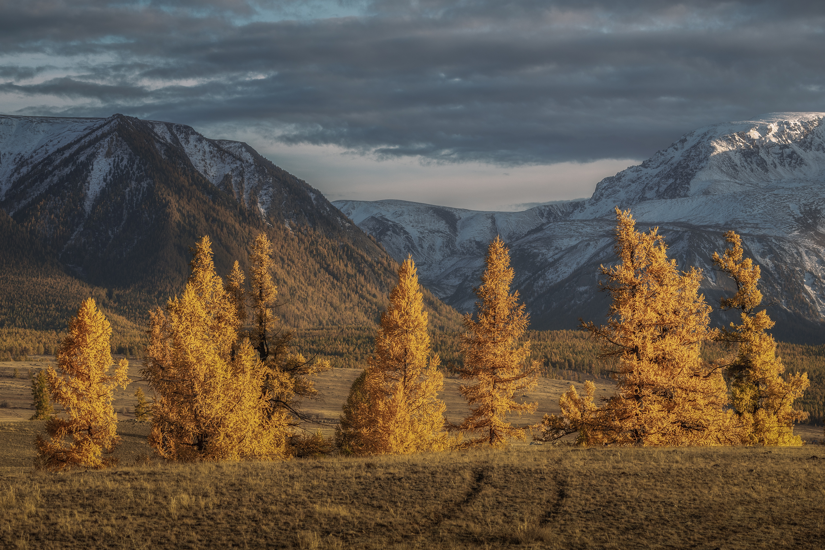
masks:
{"type": "MultiPolygon", "coordinates": [[[[0,440],[31,439],[23,429],[5,425],[0,440]]],[[[181,465],[145,461],[137,440],[127,444],[109,471],[0,468],[0,547],[731,550],[825,540],[818,445],[181,465]]]]}

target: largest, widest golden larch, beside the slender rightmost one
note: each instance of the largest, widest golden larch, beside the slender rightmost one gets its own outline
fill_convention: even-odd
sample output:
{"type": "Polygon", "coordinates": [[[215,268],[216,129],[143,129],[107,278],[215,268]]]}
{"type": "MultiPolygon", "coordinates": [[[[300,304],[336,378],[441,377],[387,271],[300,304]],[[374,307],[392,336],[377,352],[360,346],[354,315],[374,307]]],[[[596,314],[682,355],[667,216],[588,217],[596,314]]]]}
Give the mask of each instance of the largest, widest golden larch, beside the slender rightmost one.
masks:
{"type": "Polygon", "coordinates": [[[658,228],[640,233],[629,210],[615,213],[619,262],[601,266],[607,280],[599,282],[612,298],[608,322],[582,328],[602,342],[602,359],[618,359],[618,392],[596,407],[592,383],[584,396],[571,387],[560,400],[563,416],[545,416],[536,439],[578,432],[592,445],[738,443],[720,369],[700,358],[701,342],[715,336],[698,292],[701,271],[679,271],[658,228]]]}

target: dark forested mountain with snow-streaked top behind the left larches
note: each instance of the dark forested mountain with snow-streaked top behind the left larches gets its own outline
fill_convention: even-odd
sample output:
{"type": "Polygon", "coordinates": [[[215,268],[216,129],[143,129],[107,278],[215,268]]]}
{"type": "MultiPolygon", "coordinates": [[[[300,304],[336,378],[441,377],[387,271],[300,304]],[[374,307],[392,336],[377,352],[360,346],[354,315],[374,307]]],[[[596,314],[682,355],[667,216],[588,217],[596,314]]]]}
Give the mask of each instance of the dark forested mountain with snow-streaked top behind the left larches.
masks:
{"type": "MultiPolygon", "coordinates": [[[[35,312],[76,308],[61,298],[71,287],[140,327],[181,291],[189,247],[205,234],[219,274],[236,259],[246,266],[254,236],[269,235],[280,312],[293,327],[374,323],[397,268],[318,190],[246,143],[123,115],[0,116],[0,209],[2,234],[25,243],[0,270],[4,299],[29,303],[15,309],[25,315],[4,314],[6,325],[55,328],[65,308],[35,312]],[[26,282],[44,266],[51,284],[26,282]]],[[[458,326],[450,308],[428,303],[436,324],[458,326]]]]}

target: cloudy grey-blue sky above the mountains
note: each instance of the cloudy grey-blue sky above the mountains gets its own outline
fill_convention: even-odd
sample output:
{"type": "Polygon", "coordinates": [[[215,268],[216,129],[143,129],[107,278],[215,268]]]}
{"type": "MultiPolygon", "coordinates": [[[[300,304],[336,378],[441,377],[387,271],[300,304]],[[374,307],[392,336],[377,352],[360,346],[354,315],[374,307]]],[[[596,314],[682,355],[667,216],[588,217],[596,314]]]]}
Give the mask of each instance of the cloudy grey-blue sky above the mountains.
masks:
{"type": "Polygon", "coordinates": [[[246,141],[330,200],[525,209],[825,110],[825,2],[0,0],[0,113],[246,141]]]}

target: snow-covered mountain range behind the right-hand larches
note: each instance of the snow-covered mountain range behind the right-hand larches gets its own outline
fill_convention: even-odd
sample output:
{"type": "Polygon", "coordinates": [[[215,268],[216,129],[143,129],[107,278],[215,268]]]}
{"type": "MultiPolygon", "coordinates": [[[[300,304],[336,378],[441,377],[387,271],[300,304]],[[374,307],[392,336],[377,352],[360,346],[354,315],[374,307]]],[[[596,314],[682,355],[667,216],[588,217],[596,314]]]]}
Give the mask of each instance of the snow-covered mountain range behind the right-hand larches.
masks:
{"type": "MultiPolygon", "coordinates": [[[[422,282],[472,310],[488,242],[511,248],[536,328],[573,327],[606,313],[597,269],[614,261],[614,209],[659,226],[680,266],[705,270],[718,303],[729,282],[710,269],[728,229],[742,234],[774,300],[778,336],[825,341],[825,113],[771,113],[682,136],[639,166],[599,182],[589,200],[524,212],[474,212],[402,200],[335,204],[396,259],[412,254],[422,282]]],[[[722,321],[717,317],[717,321],[722,321]]]]}

